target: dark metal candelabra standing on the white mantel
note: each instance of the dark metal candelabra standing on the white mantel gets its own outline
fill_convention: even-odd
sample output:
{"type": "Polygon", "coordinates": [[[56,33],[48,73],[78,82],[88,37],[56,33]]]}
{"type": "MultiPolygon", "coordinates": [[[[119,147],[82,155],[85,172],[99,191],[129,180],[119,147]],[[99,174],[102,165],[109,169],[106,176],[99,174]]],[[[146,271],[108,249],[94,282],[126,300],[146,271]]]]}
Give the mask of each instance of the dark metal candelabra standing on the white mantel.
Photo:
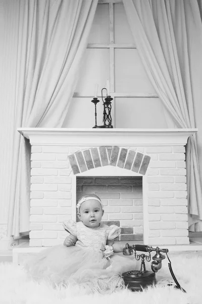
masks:
{"type": "MultiPolygon", "coordinates": [[[[106,88],[102,89],[102,100],[103,100],[103,90],[106,90],[106,88]]],[[[112,110],[112,101],[113,98],[109,95],[108,96],[108,91],[107,91],[107,97],[105,98],[105,101],[103,100],[103,126],[97,126],[97,112],[96,112],[96,104],[99,102],[99,100],[97,98],[93,98],[93,100],[91,100],[91,102],[94,103],[95,106],[95,126],[94,128],[114,128],[112,126],[112,116],[111,116],[111,110],[112,110]]]]}

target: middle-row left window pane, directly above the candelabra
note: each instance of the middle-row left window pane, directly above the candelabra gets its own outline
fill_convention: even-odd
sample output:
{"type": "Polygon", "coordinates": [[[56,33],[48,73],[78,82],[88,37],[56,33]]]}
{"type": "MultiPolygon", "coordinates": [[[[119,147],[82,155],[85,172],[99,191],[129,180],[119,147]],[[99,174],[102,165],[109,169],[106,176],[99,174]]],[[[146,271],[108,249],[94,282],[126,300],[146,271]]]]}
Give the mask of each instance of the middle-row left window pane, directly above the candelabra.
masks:
{"type": "Polygon", "coordinates": [[[109,75],[109,49],[86,49],[75,92],[94,96],[95,84],[98,84],[97,95],[100,96],[109,75]]]}

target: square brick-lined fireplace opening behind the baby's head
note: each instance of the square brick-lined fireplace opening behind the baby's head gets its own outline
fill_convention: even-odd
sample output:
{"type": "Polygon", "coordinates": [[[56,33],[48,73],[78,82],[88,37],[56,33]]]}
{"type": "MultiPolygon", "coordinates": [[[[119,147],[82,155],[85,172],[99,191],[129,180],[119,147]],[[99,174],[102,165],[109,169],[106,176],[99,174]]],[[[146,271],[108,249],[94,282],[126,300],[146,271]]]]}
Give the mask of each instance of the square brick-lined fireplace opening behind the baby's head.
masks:
{"type": "Polygon", "coordinates": [[[106,224],[121,227],[116,241],[143,241],[141,176],[77,176],[76,202],[86,193],[94,193],[102,200],[106,224]]]}

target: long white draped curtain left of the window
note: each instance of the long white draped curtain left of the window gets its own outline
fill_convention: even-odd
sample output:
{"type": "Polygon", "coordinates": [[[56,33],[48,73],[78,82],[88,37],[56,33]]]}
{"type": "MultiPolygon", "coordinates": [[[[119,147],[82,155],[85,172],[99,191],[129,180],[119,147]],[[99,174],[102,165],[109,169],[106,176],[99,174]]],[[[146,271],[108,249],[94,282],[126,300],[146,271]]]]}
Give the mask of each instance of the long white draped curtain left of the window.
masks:
{"type": "Polygon", "coordinates": [[[29,231],[30,145],[19,127],[60,128],[98,0],[18,0],[19,36],[8,236],[29,231]]]}

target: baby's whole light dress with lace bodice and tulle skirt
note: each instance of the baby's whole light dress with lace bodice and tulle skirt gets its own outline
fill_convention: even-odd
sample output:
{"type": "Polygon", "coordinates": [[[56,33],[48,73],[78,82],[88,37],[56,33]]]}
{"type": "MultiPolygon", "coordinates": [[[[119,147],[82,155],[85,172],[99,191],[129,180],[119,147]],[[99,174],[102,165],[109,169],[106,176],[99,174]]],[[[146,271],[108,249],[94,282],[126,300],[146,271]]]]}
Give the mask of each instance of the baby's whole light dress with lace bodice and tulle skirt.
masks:
{"type": "Polygon", "coordinates": [[[103,256],[107,240],[119,236],[121,229],[103,222],[99,227],[87,227],[82,222],[68,220],[65,230],[77,237],[75,246],[63,244],[41,251],[25,269],[36,280],[47,279],[53,285],[81,284],[93,291],[113,291],[124,286],[122,273],[136,268],[135,260],[113,254],[103,256]]]}

